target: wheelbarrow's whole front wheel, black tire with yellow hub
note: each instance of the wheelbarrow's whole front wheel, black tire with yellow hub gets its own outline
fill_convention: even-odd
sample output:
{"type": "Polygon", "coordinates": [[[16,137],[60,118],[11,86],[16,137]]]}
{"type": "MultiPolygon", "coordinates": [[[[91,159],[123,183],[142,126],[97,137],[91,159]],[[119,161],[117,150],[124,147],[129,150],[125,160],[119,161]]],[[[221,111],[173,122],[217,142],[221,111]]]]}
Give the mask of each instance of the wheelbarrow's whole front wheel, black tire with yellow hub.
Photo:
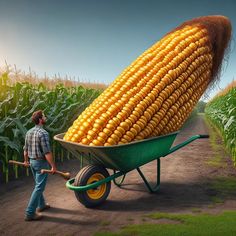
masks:
{"type": "MultiPolygon", "coordinates": [[[[102,166],[88,165],[82,168],[75,177],[75,186],[85,186],[109,177],[108,171],[102,166]]],[[[104,183],[94,189],[76,192],[75,196],[85,207],[92,208],[103,203],[111,189],[111,182],[104,183]]]]}

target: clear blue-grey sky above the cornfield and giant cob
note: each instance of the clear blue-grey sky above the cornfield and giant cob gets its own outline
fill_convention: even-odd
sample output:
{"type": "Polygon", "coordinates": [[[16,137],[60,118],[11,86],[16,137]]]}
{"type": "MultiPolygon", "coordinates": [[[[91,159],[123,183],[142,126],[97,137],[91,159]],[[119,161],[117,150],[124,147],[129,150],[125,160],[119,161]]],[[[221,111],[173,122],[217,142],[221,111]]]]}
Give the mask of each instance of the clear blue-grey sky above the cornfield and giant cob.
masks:
{"type": "Polygon", "coordinates": [[[0,0],[0,67],[110,84],[184,21],[220,14],[233,39],[212,97],[236,78],[235,12],[234,0],[0,0]]]}

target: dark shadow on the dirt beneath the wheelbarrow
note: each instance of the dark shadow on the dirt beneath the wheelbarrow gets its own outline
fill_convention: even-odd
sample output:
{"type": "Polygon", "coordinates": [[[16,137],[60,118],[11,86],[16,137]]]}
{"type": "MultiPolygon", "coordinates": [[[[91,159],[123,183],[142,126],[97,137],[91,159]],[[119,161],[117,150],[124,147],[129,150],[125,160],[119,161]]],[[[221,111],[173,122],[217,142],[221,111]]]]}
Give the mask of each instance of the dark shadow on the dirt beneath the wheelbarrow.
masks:
{"type": "Polygon", "coordinates": [[[209,206],[211,197],[216,195],[216,191],[209,191],[207,183],[162,182],[160,190],[151,194],[143,183],[124,184],[120,189],[114,188],[107,201],[96,209],[121,212],[186,210],[209,206]],[[117,191],[124,192],[122,199],[117,198],[117,191]]]}

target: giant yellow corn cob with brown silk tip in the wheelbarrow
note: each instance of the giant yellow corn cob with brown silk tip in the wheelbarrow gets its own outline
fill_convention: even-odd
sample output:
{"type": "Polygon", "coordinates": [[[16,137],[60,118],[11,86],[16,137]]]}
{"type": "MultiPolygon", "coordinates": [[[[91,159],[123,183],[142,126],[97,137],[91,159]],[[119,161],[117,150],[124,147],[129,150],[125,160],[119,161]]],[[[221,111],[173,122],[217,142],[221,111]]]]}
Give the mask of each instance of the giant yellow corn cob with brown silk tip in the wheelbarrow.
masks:
{"type": "Polygon", "coordinates": [[[64,139],[108,146],[180,129],[216,77],[230,35],[223,16],[185,22],[127,67],[64,139]]]}

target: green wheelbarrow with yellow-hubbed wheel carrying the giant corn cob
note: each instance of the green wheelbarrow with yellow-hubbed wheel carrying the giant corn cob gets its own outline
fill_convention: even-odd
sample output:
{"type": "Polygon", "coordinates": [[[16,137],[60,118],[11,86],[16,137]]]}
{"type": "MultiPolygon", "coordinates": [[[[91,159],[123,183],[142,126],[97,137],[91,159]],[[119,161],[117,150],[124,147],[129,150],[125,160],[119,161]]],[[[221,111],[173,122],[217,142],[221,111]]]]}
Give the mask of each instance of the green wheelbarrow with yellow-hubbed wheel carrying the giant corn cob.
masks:
{"type": "Polygon", "coordinates": [[[171,147],[179,131],[168,135],[134,141],[115,146],[88,146],[63,140],[64,133],[54,136],[54,139],[81,159],[81,169],[75,178],[66,182],[66,187],[73,190],[76,198],[85,207],[92,208],[102,204],[108,197],[111,181],[121,186],[128,172],[136,169],[150,193],[160,188],[161,157],[186,146],[199,138],[209,138],[209,135],[194,135],[186,141],[171,147]],[[140,167],[157,160],[157,183],[155,186],[145,178],[140,167]],[[85,165],[85,167],[83,167],[85,165]],[[109,174],[107,169],[113,170],[109,174]]]}

